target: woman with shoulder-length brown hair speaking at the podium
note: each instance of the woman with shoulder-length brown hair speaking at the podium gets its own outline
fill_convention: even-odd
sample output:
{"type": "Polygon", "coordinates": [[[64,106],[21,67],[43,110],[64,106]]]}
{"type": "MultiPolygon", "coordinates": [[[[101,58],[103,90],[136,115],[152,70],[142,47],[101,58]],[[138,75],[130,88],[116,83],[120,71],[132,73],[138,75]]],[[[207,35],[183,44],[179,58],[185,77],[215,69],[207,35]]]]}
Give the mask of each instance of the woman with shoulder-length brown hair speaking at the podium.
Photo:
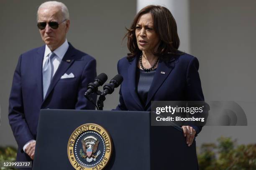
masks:
{"type": "MultiPolygon", "coordinates": [[[[127,57],[118,61],[123,76],[115,110],[151,111],[151,101],[203,101],[196,57],[180,52],[177,24],[171,12],[149,5],[127,29],[127,57]]],[[[182,126],[190,146],[201,126],[182,126]]]]}

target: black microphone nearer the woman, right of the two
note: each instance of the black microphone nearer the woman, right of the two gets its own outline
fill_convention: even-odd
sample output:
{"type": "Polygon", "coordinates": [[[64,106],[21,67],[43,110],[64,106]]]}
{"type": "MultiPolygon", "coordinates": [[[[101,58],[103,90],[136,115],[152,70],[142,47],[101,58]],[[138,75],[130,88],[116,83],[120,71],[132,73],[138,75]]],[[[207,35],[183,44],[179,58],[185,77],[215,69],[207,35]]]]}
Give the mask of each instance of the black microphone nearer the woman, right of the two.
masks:
{"type": "Polygon", "coordinates": [[[116,75],[112,80],[110,80],[110,83],[105,84],[103,87],[103,92],[101,95],[105,96],[107,94],[112,94],[114,91],[114,88],[118,87],[123,82],[123,76],[116,75]]]}

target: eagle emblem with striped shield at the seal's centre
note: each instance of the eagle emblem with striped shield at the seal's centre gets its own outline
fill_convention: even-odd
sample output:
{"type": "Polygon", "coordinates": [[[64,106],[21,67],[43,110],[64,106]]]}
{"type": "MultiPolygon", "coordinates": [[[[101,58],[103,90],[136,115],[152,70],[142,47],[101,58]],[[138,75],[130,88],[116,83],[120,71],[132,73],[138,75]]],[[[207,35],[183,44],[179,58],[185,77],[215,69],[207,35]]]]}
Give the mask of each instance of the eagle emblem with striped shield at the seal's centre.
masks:
{"type": "Polygon", "coordinates": [[[100,141],[95,136],[87,136],[81,142],[83,149],[80,149],[80,157],[84,158],[88,163],[92,162],[92,160],[96,161],[100,155],[100,150],[95,155],[100,141]]]}

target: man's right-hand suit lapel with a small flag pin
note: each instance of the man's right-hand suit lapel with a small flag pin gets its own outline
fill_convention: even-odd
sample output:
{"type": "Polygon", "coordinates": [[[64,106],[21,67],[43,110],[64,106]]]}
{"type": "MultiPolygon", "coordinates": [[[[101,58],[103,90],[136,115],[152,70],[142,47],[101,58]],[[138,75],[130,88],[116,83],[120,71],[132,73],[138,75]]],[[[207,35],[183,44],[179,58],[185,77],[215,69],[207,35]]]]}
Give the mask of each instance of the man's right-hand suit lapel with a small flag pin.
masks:
{"type": "MultiPolygon", "coordinates": [[[[46,96],[44,98],[44,101],[47,99],[51,91],[54,89],[56,83],[59,81],[62,75],[67,71],[67,69],[72,65],[74,62],[74,47],[72,47],[71,44],[69,44],[69,48],[64,55],[58,69],[56,70],[54,77],[51,80],[51,84],[47,90],[46,96]],[[67,62],[68,61],[68,62],[67,62]]],[[[44,102],[43,102],[44,103],[44,102]]]]}

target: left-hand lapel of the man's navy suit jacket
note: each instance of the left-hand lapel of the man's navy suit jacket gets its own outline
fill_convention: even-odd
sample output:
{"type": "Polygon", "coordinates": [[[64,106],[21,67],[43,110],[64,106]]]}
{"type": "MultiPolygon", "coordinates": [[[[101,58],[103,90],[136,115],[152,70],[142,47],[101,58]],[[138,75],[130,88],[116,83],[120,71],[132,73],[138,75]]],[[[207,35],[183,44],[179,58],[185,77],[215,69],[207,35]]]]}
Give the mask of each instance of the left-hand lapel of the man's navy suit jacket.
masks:
{"type": "Polygon", "coordinates": [[[43,60],[44,60],[44,50],[45,45],[43,47],[40,47],[37,50],[36,57],[33,57],[34,59],[34,67],[35,67],[35,73],[36,73],[36,82],[38,87],[38,94],[40,96],[40,101],[43,101],[43,73],[42,73],[42,67],[43,67],[43,60]]]}

